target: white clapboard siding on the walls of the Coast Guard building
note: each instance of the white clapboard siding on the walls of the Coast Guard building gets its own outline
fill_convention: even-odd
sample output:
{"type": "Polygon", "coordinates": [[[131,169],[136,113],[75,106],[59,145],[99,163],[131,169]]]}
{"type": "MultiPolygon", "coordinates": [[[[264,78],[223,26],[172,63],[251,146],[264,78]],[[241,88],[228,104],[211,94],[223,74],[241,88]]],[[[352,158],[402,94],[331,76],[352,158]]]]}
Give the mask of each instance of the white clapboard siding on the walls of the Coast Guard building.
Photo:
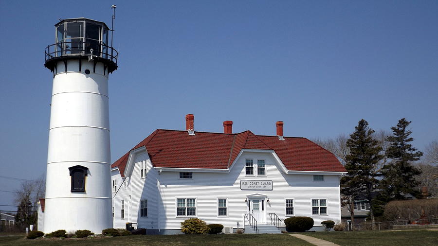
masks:
{"type": "Polygon", "coordinates": [[[119,172],[112,171],[112,179],[117,178],[117,185],[122,186],[113,198],[114,228],[125,228],[127,222],[134,222],[138,223],[140,228],[180,229],[181,222],[187,217],[176,215],[177,198],[195,198],[196,217],[207,224],[236,227],[236,223],[239,222],[240,226],[243,226],[243,214],[248,212],[245,198],[256,193],[266,195],[270,200],[269,203],[265,201],[267,224],[270,224],[268,213],[276,213],[282,220],[286,218],[285,199],[293,199],[294,216],[312,217],[315,226],[321,226],[324,220],[341,220],[339,176],[325,175],[325,181],[317,182],[313,181],[312,175],[288,175],[280,171],[279,163],[270,153],[244,152],[229,173],[193,173],[193,179],[180,179],[179,172],[158,174],[158,171],[152,168],[146,151],[137,154],[134,163],[126,189],[119,172]],[[246,176],[245,159],[248,158],[254,160],[255,170],[257,159],[264,159],[266,176],[246,176]],[[142,161],[146,162],[146,178],[140,177],[142,161]],[[240,190],[241,179],[272,180],[273,190],[240,190]],[[157,187],[158,183],[160,189],[157,187]],[[225,217],[218,216],[219,198],[227,199],[228,215],[225,217]],[[327,215],[312,216],[312,198],[327,199],[327,215]],[[122,199],[125,199],[124,220],[120,219],[122,199]],[[146,218],[140,217],[140,199],[147,199],[146,218]]]}

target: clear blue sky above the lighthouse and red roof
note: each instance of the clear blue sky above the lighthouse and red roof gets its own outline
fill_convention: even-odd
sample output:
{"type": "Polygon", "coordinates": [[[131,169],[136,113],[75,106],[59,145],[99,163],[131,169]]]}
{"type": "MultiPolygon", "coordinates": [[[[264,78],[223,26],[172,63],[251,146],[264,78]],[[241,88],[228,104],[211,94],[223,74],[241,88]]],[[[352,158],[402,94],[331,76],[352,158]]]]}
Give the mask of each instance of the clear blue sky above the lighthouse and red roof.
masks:
{"type": "MultiPolygon", "coordinates": [[[[111,23],[111,158],[157,128],[333,138],[362,118],[405,117],[420,150],[438,140],[438,1],[0,0],[0,176],[45,172],[58,18],[111,23]]],[[[2,191],[16,180],[0,177],[2,191]]],[[[0,205],[12,193],[0,192],[0,205]]],[[[10,207],[1,207],[7,210],[10,207]]]]}

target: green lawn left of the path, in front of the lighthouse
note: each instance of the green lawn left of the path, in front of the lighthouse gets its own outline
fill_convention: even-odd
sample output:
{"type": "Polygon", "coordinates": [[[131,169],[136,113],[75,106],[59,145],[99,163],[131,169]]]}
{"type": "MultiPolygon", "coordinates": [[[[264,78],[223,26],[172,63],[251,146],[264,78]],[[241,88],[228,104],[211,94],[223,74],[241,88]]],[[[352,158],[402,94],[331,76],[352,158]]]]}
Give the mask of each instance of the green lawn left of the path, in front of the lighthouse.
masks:
{"type": "Polygon", "coordinates": [[[289,234],[133,235],[93,239],[25,239],[24,235],[0,237],[0,245],[308,245],[289,234]]]}

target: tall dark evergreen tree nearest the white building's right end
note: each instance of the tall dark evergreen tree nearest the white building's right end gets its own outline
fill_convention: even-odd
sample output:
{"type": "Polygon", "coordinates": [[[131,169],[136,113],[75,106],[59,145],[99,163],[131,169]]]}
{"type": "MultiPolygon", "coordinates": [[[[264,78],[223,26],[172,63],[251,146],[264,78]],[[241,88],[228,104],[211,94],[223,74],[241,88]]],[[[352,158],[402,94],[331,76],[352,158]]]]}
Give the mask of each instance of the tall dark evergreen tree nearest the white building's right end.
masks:
{"type": "Polygon", "coordinates": [[[372,137],[374,130],[368,127],[368,123],[362,119],[355,127],[355,131],[350,134],[347,140],[349,154],[346,156],[347,176],[341,179],[342,193],[352,196],[350,199],[350,215],[353,222],[354,207],[352,200],[354,196],[364,195],[370,203],[371,221],[374,222],[372,211],[371,193],[377,187],[379,173],[376,171],[379,161],[383,159],[380,155],[382,147],[379,141],[372,137]]]}

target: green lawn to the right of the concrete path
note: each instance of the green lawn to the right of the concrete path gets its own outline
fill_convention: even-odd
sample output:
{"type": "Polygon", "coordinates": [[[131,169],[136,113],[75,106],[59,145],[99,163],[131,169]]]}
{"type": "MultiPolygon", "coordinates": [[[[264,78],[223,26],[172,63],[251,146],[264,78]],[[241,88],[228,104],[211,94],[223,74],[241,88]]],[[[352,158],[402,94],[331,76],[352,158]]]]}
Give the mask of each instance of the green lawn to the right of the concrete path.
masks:
{"type": "Polygon", "coordinates": [[[438,245],[438,230],[404,231],[330,231],[305,232],[307,236],[324,239],[342,246],[358,245],[438,245]]]}

